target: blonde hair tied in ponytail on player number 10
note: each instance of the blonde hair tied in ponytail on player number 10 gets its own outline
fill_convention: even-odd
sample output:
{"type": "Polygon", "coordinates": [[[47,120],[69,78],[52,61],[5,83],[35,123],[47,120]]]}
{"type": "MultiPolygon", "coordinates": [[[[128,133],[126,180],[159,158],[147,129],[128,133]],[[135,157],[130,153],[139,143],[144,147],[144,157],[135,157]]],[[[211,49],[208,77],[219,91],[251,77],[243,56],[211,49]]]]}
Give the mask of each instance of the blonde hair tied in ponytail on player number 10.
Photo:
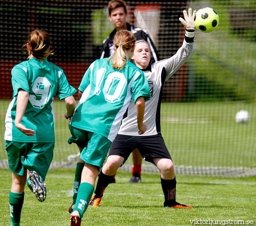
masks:
{"type": "Polygon", "coordinates": [[[128,62],[127,52],[125,50],[131,49],[135,45],[135,41],[136,39],[131,31],[121,30],[116,33],[113,42],[117,50],[108,60],[109,62],[110,59],[113,59],[113,68],[119,70],[124,68],[128,62]]]}

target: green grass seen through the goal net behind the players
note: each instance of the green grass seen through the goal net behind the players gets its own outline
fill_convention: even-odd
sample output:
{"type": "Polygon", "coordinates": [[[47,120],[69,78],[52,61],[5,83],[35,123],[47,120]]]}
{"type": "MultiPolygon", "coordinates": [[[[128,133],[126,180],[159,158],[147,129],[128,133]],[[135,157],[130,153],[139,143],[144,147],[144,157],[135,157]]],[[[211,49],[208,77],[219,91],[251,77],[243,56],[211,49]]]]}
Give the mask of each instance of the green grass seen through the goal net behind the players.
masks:
{"type": "MultiPolygon", "coordinates": [[[[4,134],[4,116],[9,102],[0,101],[1,134],[4,134]]],[[[54,112],[53,162],[67,162],[67,157],[77,154],[78,149],[67,143],[70,133],[63,116],[64,101],[54,101],[54,112]]],[[[255,128],[255,102],[162,103],[161,131],[174,165],[253,169],[256,167],[255,128]],[[248,123],[235,122],[236,112],[241,109],[249,111],[248,123]]],[[[7,159],[3,136],[0,144],[0,160],[7,159]]],[[[128,159],[127,164],[132,164],[132,160],[128,159]]]]}

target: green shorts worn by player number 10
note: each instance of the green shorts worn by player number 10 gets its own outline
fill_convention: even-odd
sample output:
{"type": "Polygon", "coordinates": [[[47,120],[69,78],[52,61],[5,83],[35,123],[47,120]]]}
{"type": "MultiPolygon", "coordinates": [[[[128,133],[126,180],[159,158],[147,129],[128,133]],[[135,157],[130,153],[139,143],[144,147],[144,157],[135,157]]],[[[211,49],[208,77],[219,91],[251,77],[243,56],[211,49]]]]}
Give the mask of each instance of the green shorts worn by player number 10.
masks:
{"type": "Polygon", "coordinates": [[[80,130],[71,125],[69,130],[72,137],[68,139],[68,143],[76,143],[83,148],[80,159],[88,164],[99,166],[100,171],[109,152],[111,141],[97,133],[80,130]]]}

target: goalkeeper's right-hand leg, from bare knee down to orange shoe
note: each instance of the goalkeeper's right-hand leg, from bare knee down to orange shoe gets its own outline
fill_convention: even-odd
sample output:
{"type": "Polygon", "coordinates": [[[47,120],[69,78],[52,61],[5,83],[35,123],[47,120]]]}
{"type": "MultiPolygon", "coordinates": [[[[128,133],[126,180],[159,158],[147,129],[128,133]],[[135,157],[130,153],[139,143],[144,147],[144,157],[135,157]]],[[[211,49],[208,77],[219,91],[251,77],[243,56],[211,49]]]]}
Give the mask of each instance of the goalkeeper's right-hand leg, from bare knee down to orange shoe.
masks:
{"type": "Polygon", "coordinates": [[[193,208],[176,202],[176,178],[172,160],[168,158],[153,158],[153,161],[161,172],[161,185],[165,196],[163,206],[170,208],[193,208]]]}

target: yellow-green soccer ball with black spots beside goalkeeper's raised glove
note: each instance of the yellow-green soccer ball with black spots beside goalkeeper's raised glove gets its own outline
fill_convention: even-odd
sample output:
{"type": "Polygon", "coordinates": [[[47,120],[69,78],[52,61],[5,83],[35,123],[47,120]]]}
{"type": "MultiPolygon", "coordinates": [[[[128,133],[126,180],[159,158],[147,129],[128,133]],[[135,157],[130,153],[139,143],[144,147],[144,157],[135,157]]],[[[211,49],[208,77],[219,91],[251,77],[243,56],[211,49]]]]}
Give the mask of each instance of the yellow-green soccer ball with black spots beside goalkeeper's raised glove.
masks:
{"type": "Polygon", "coordinates": [[[212,32],[219,25],[219,15],[214,9],[204,7],[196,12],[194,22],[199,31],[212,32]]]}

